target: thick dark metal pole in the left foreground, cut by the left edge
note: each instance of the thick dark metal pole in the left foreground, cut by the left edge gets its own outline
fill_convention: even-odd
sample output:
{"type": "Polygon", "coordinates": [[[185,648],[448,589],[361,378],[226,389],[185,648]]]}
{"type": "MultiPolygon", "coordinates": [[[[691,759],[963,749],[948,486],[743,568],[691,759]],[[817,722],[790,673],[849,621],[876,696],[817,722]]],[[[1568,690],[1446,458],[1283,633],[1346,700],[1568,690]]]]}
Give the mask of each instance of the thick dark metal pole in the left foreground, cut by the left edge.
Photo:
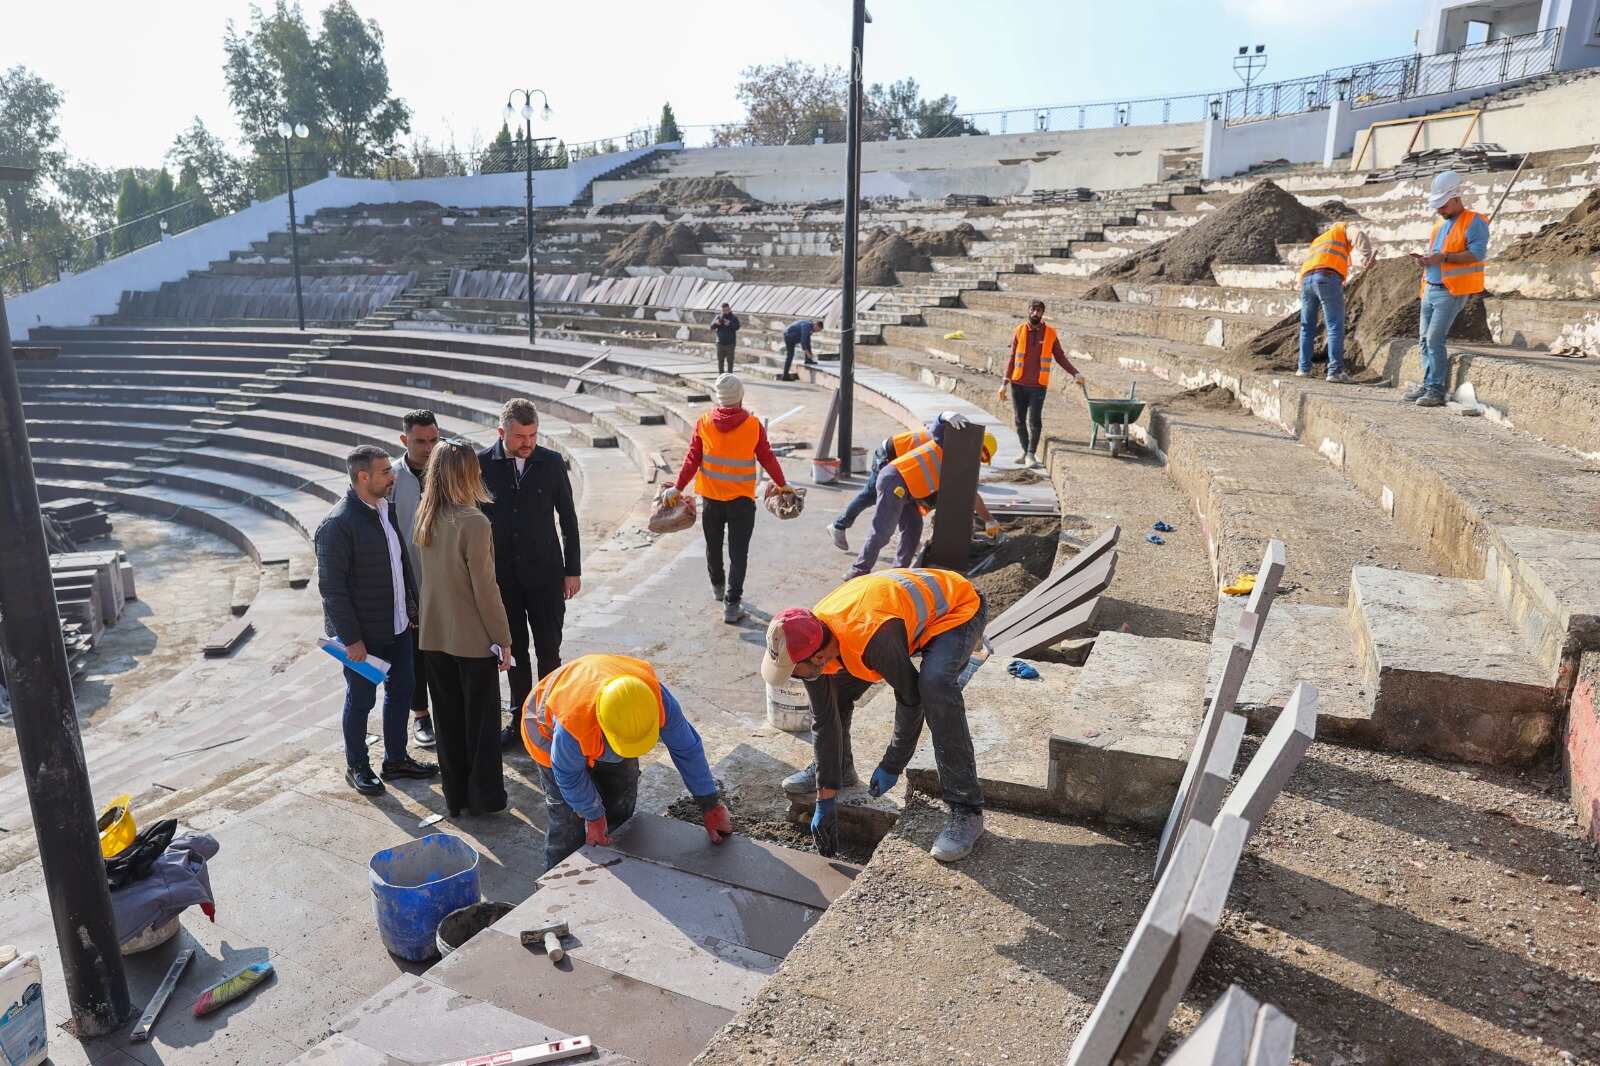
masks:
{"type": "Polygon", "coordinates": [[[131,1013],[128,978],[112,920],[13,359],[0,301],[0,530],[11,530],[0,551],[0,664],[72,1020],[78,1037],[91,1037],[110,1032],[131,1013]]]}

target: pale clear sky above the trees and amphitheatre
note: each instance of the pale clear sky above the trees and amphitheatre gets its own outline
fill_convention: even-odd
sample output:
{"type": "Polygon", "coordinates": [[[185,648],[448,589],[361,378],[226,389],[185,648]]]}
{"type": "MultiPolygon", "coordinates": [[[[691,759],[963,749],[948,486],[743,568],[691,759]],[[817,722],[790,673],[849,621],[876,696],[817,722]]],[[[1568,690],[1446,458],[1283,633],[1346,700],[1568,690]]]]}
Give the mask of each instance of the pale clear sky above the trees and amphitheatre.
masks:
{"type": "MultiPolygon", "coordinates": [[[[302,0],[315,24],[326,0],[302,0]]],[[[389,74],[416,131],[499,128],[514,86],[549,93],[538,136],[570,142],[653,125],[739,117],[734,85],[784,58],[843,66],[848,0],[355,0],[378,19],[389,74]]],[[[24,64],[66,93],[62,134],[102,166],[158,165],[200,115],[234,138],[222,30],[246,0],[16,0],[0,67],[24,64]]],[[[1266,80],[1410,53],[1421,0],[869,0],[866,78],[915,77],[962,110],[1206,91],[1235,85],[1238,45],[1267,45],[1266,80]]]]}

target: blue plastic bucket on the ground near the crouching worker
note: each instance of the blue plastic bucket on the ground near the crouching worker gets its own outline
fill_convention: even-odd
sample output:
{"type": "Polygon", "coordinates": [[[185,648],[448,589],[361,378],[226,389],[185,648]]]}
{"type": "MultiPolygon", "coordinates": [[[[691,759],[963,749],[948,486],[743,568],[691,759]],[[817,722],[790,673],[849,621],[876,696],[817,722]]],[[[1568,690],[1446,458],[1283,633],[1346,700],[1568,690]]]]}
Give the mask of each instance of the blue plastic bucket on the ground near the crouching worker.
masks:
{"type": "Polygon", "coordinates": [[[478,852],[448,832],[384,848],[368,864],[384,948],[421,962],[438,956],[438,924],[478,901],[478,852]]]}

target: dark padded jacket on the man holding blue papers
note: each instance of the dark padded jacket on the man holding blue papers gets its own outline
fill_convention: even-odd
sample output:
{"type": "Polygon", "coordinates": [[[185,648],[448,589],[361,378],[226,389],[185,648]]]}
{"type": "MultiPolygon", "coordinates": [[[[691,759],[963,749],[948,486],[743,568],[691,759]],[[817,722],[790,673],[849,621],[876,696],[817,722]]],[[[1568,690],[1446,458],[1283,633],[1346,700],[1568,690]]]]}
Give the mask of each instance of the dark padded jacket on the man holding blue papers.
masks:
{"type": "MultiPolygon", "coordinates": [[[[394,507],[384,514],[394,527],[394,507]]],[[[405,576],[406,618],[416,623],[416,578],[400,539],[400,568],[405,576]]],[[[317,544],[317,591],[322,592],[322,619],[330,637],[346,645],[368,645],[395,639],[395,591],[389,570],[389,539],[378,512],[355,496],[355,490],[333,506],[312,538],[317,544]]]]}

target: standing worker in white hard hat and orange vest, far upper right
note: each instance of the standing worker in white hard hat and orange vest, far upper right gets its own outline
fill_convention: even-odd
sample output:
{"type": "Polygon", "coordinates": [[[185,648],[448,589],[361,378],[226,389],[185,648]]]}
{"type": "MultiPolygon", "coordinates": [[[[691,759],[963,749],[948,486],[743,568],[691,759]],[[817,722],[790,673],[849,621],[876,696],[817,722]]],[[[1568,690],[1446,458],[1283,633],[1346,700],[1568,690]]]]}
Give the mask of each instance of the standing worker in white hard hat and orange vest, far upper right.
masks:
{"type": "Polygon", "coordinates": [[[1483,261],[1490,253],[1490,224],[1461,203],[1461,174],[1446,170],[1434,178],[1427,206],[1438,213],[1427,240],[1427,254],[1411,258],[1422,267],[1418,295],[1422,301],[1418,333],[1422,341],[1422,384],[1402,400],[1418,407],[1443,407],[1450,386],[1450,352],[1445,338],[1467,298],[1483,291],[1483,261]]]}

